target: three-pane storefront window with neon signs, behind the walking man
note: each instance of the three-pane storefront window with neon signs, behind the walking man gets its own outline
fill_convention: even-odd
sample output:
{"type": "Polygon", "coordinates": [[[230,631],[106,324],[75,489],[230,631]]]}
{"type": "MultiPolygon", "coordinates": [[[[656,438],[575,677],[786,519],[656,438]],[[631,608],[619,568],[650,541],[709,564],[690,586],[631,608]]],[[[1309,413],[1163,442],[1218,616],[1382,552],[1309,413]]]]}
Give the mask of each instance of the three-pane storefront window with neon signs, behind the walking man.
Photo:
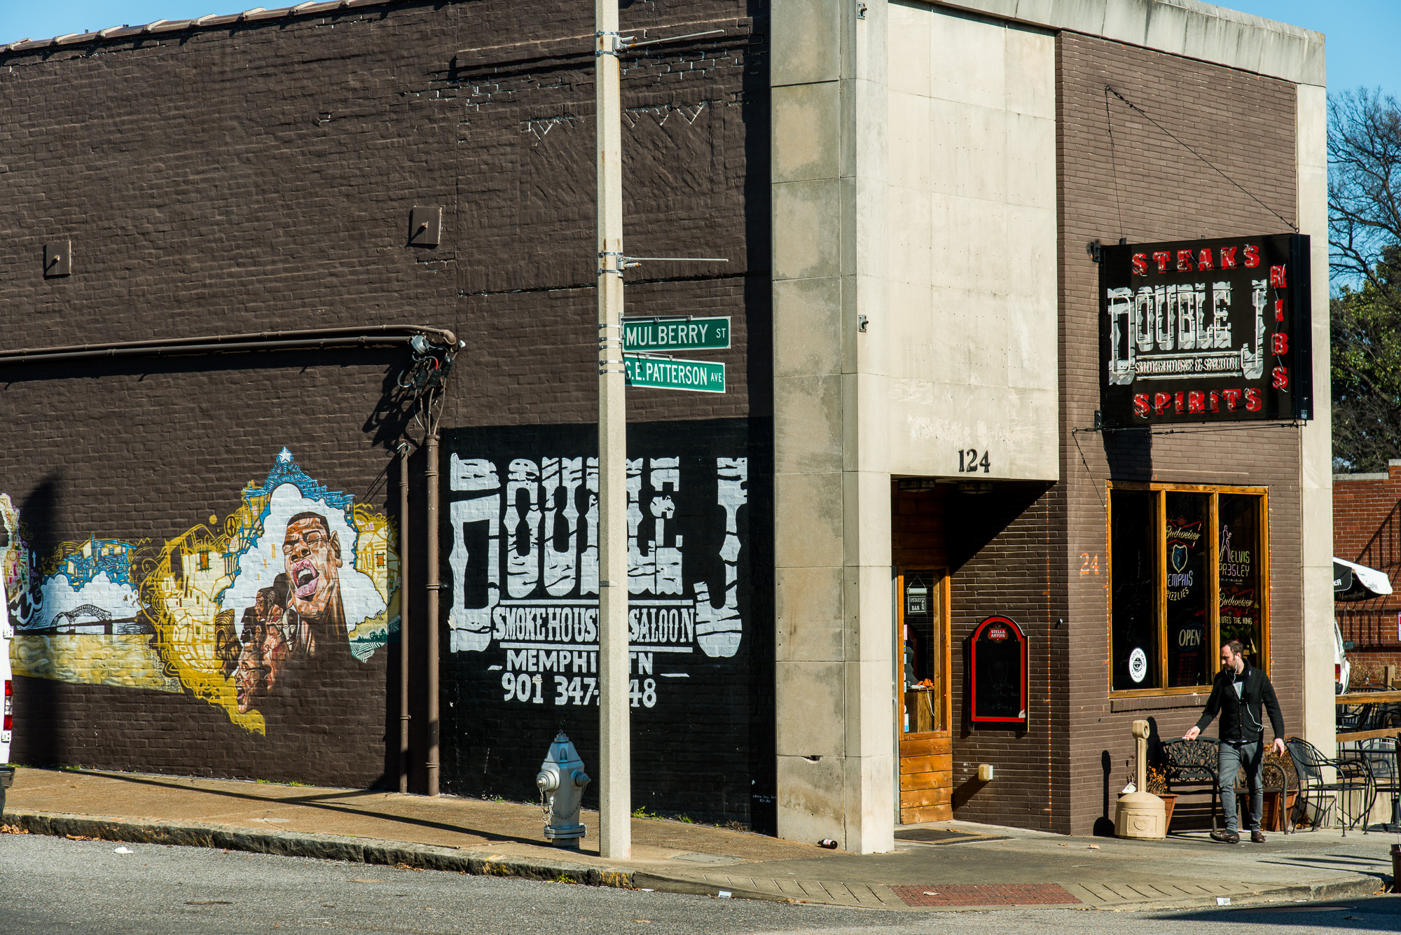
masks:
{"type": "Polygon", "coordinates": [[[1265,509],[1262,490],[1110,490],[1112,690],[1202,689],[1227,640],[1268,666],[1265,509]]]}

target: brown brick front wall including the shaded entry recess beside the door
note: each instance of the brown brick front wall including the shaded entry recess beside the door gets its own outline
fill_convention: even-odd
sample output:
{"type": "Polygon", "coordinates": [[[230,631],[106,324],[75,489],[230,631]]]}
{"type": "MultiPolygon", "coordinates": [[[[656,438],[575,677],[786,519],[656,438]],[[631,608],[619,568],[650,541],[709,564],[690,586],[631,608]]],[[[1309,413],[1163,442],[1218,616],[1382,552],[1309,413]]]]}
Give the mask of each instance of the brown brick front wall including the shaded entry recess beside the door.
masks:
{"type": "Polygon", "coordinates": [[[1300,717],[1299,433],[1250,427],[1108,435],[1098,409],[1098,267],[1086,244],[1213,238],[1288,230],[1192,153],[1111,95],[1112,85],[1286,218],[1295,216],[1295,91],[1258,76],[1076,34],[1058,39],[1061,481],[998,484],[968,497],[897,493],[897,561],[953,570],[954,808],[965,820],[1104,831],[1133,743],[1131,721],[1181,735],[1199,704],[1111,703],[1107,481],[1267,486],[1271,504],[1271,672],[1286,724],[1300,717]],[[1121,218],[1122,217],[1122,223],[1121,218]],[[918,505],[918,498],[929,501],[918,505]],[[960,501],[982,500],[984,508],[960,501]],[[962,515],[953,516],[953,511],[962,515]],[[943,536],[941,549],[936,542],[943,536]],[[1028,635],[1026,731],[969,729],[965,641],[991,613],[1028,635]],[[991,784],[976,781],[992,763],[991,784]]]}

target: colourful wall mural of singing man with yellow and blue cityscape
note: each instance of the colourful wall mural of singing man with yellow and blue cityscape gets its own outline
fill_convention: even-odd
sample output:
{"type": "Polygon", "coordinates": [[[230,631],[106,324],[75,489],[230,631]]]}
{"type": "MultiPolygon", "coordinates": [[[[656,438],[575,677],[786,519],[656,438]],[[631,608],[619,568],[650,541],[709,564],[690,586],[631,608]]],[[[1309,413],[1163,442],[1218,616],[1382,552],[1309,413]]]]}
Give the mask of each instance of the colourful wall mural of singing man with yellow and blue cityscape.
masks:
{"type": "Polygon", "coordinates": [[[4,568],[20,675],[189,691],[266,732],[269,711],[398,633],[388,518],[286,448],[223,521],[158,549],[92,537],[35,563],[7,497],[0,512],[21,543],[4,568]]]}

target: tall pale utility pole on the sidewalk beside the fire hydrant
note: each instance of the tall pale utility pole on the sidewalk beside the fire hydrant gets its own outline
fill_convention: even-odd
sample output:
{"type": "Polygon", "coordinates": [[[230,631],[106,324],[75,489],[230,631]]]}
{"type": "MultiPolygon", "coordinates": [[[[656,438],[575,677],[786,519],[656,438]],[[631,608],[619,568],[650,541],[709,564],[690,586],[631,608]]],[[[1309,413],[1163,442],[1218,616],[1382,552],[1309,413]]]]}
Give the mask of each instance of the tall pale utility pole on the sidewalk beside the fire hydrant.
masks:
{"type": "Polygon", "coordinates": [[[594,0],[598,144],[598,854],[632,858],[628,705],[628,413],[622,358],[618,0],[594,0]]]}

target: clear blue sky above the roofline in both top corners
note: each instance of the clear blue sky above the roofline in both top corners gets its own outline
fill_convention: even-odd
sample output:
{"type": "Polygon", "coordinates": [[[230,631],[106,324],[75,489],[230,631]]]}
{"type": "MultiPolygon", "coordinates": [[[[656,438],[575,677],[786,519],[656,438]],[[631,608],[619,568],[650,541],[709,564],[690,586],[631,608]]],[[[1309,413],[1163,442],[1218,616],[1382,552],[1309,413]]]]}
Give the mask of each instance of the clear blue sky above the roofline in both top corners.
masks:
{"type": "MultiPolygon", "coordinates": [[[[0,0],[0,43],[291,3],[296,0],[0,0]]],[[[1327,34],[1331,88],[1380,87],[1401,97],[1395,53],[1401,0],[1233,0],[1222,6],[1327,34]]]]}

